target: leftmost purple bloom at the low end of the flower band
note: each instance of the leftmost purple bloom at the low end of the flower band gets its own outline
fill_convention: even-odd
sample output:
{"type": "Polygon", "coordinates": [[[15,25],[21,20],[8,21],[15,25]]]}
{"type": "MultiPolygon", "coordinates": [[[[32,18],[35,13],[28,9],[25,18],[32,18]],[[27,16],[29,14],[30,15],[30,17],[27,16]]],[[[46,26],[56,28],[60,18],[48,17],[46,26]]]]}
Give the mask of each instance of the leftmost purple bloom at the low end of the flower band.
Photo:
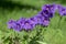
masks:
{"type": "Polygon", "coordinates": [[[16,21],[14,21],[14,20],[10,20],[9,22],[8,22],[8,28],[9,29],[13,29],[13,30],[15,30],[15,31],[21,31],[22,29],[21,29],[21,25],[16,22],[16,21]]]}

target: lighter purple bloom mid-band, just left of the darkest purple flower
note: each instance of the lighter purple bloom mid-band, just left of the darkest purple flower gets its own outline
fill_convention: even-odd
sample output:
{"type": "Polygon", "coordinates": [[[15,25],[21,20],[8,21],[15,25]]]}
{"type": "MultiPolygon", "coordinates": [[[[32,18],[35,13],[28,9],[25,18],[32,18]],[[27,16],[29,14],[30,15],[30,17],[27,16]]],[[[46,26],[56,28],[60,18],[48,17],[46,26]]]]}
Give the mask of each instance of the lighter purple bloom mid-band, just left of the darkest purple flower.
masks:
{"type": "Polygon", "coordinates": [[[43,18],[44,16],[42,16],[41,14],[37,14],[37,15],[33,16],[33,18],[30,18],[29,20],[35,26],[36,24],[41,24],[42,23],[43,18]]]}

